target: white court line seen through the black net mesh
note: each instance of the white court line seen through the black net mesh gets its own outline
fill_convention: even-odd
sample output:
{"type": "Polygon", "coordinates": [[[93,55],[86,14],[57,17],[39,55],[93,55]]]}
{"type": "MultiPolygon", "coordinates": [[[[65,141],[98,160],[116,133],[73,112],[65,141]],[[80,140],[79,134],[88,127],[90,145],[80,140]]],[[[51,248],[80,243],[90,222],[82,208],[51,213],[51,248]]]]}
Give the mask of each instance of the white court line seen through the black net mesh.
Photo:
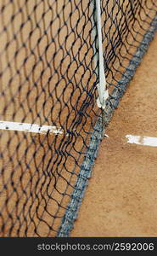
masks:
{"type": "Polygon", "coordinates": [[[49,125],[36,125],[36,124],[27,124],[27,123],[18,123],[18,122],[8,122],[0,120],[0,130],[7,131],[25,131],[25,132],[35,132],[35,133],[50,133],[54,134],[63,134],[61,128],[56,126],[49,125]]]}

